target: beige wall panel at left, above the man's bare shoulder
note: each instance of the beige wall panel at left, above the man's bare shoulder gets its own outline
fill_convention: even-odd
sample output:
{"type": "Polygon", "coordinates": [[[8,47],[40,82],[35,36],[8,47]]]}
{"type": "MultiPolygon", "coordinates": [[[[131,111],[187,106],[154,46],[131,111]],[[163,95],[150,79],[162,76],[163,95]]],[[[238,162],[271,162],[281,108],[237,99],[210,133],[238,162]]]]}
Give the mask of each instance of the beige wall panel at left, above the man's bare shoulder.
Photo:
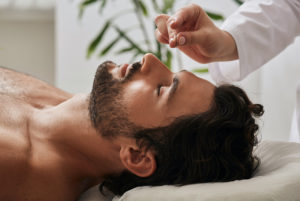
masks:
{"type": "Polygon", "coordinates": [[[0,16],[0,66],[54,84],[54,21],[0,16]]]}

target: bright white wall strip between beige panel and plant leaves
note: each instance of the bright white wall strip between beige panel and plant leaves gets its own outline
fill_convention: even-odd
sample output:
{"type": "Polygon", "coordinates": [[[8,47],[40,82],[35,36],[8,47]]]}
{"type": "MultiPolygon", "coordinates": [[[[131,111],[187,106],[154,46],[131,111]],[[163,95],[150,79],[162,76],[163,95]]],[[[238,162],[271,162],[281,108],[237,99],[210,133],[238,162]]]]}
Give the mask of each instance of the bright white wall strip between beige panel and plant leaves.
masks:
{"type": "Polygon", "coordinates": [[[69,92],[88,92],[100,61],[86,59],[86,48],[101,27],[97,9],[78,20],[79,0],[57,0],[56,85],[69,92]]]}

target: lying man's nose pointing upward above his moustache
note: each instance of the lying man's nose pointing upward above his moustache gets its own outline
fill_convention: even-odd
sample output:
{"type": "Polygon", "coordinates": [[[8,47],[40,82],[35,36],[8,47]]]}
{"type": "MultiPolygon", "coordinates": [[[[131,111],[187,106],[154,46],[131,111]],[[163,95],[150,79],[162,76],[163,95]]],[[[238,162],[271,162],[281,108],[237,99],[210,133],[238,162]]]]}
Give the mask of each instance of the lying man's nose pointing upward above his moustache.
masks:
{"type": "Polygon", "coordinates": [[[151,71],[151,69],[159,67],[164,70],[169,70],[167,66],[163,64],[155,55],[151,53],[145,54],[142,59],[142,73],[147,74],[149,71],[151,71]]]}

